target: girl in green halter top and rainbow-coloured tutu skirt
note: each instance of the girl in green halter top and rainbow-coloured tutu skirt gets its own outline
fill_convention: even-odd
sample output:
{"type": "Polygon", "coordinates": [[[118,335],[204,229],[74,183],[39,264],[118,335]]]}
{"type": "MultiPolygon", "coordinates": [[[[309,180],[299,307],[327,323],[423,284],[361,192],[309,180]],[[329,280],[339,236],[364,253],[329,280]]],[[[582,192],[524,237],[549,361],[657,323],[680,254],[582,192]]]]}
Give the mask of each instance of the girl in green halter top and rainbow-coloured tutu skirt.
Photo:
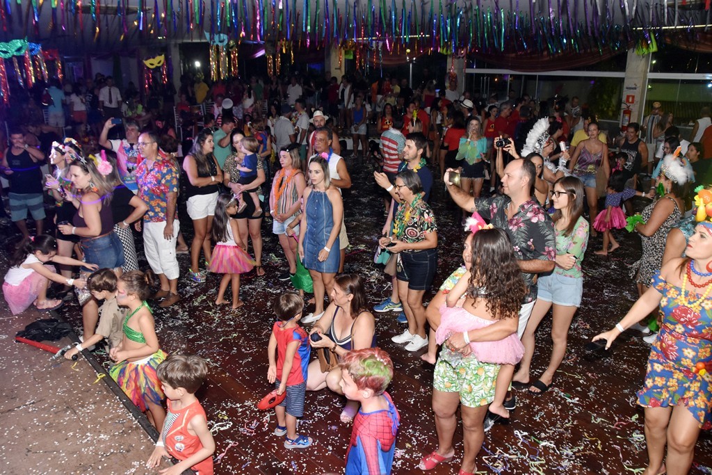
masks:
{"type": "Polygon", "coordinates": [[[129,313],[124,319],[121,344],[109,352],[115,361],[109,375],[136,407],[148,412],[149,420],[160,429],[166,411],[156,368],[166,359],[166,354],[158,344],[153,314],[146,303],[151,295],[151,283],[145,273],[128,271],[119,278],[116,289],[117,302],[128,307],[129,313]]]}

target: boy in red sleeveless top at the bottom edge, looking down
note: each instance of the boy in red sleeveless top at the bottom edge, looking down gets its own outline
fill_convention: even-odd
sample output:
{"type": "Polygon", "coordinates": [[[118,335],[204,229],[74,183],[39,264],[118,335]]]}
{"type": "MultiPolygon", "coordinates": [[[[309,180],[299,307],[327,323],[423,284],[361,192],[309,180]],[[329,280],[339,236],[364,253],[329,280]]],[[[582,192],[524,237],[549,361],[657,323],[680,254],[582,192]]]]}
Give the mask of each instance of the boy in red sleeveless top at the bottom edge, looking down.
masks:
{"type": "MultiPolygon", "coordinates": [[[[158,379],[167,397],[168,414],[161,438],[148,459],[152,469],[161,457],[175,457],[180,462],[170,473],[193,469],[198,475],[213,474],[215,441],[205,416],[205,409],[195,397],[208,374],[205,360],[196,355],[170,355],[158,365],[158,379]]],[[[164,473],[164,471],[162,471],[164,473]]]]}

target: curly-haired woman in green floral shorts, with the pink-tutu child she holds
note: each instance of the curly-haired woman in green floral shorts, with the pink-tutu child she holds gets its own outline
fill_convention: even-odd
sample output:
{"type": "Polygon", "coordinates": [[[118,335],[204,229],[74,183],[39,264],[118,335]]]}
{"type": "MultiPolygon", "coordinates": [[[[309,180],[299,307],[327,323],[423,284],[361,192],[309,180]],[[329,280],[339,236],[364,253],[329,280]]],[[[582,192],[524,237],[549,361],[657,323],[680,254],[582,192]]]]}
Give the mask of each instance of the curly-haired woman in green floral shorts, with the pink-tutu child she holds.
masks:
{"type": "MultiPolygon", "coordinates": [[[[469,228],[476,231],[471,222],[469,228]]],[[[501,365],[513,365],[523,353],[516,331],[526,293],[512,244],[501,229],[481,229],[468,236],[464,256],[470,259],[470,271],[455,271],[434,298],[447,303],[447,308],[441,306],[441,321],[436,322],[436,338],[443,343],[433,377],[439,445],[419,465],[430,470],[454,457],[452,442],[461,404],[465,447],[461,475],[477,471],[483,421],[495,397],[501,365]]],[[[509,376],[503,380],[508,383],[509,376]]]]}

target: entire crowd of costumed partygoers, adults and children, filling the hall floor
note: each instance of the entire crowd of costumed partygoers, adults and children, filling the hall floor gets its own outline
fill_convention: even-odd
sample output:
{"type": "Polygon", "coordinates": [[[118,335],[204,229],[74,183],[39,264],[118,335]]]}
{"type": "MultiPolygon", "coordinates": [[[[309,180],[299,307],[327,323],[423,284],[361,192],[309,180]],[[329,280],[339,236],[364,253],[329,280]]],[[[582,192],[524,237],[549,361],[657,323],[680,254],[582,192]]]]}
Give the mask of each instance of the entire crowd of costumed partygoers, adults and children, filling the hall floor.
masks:
{"type": "MultiPolygon", "coordinates": [[[[253,77],[209,87],[202,78],[184,78],[176,105],[182,120],[175,127],[160,98],[143,107],[111,78],[80,86],[85,99],[88,91],[96,95],[84,101],[85,114],[78,114],[81,101],[71,99],[68,111],[49,111],[46,130],[9,130],[0,172],[10,183],[11,219],[23,235],[3,286],[11,312],[56,309],[75,290],[83,343],[68,357],[108,340],[112,377],[157,428],[164,427],[166,447],[159,445],[149,461],[155,466],[160,456],[175,455],[167,434],[176,414],[196,402],[204,362],[166,357],[146,301],[174,306],[182,276],[200,285],[212,272],[223,274],[217,306],[248,305],[240,278],[251,271],[265,275],[263,239],[271,238],[263,235],[263,221],[271,221],[286,262],[278,278],[299,291],[274,303],[268,380],[286,395],[276,408],[274,434],[286,436],[288,449],[309,447],[313,439],[298,434],[296,424],[305,392],[328,388],[347,397],[340,419],[354,424],[347,473],[389,473],[399,416],[397,401],[384,392],[393,368],[376,348],[372,311],[398,312],[406,326],[392,341],[408,352],[425,350],[422,359],[435,365],[439,445],[419,467],[433,469],[454,457],[461,407],[460,474],[471,474],[483,433],[511,417],[512,390],[541,395],[555,383],[582,302],[590,236],[603,234],[596,254],[605,256],[619,247],[614,234],[631,226],[642,240],[641,259],[631,266],[640,298],[596,338],[608,347],[648,320],[636,327],[650,333],[645,340],[652,345],[639,393],[646,408],[645,474],[686,473],[699,430],[712,424],[706,372],[712,370],[712,223],[689,213],[692,200],[700,200],[692,189],[712,183],[712,160],[703,158],[712,151],[704,143],[712,135],[708,108],[690,142],[683,143],[671,118],[656,119],[656,103],[643,128],[632,122],[614,138],[578,98],[481,98],[458,93],[454,78],[436,92],[436,78],[429,71],[423,76],[415,88],[391,77],[369,84],[360,73],[340,83],[330,78],[323,87],[296,75],[288,85],[253,77]],[[130,98],[125,107],[122,97],[130,98]],[[196,128],[191,108],[209,97],[214,110],[196,128]],[[46,146],[38,132],[63,134],[66,113],[75,137],[46,146]],[[188,140],[178,142],[176,127],[188,140]],[[377,137],[377,145],[369,137],[377,137]],[[43,174],[46,157],[51,169],[43,174]],[[352,187],[349,169],[368,163],[380,189],[374,202],[383,211],[375,260],[392,284],[391,295],[373,307],[360,274],[344,273],[349,238],[342,190],[352,187]],[[440,216],[430,206],[436,183],[462,209],[464,262],[424,306],[444,249],[440,216]],[[606,196],[599,212],[601,188],[606,196]],[[652,201],[633,215],[633,197],[652,201]],[[47,198],[56,204],[50,226],[44,223],[47,198]],[[186,214],[190,224],[181,221],[186,214]],[[189,246],[182,229],[192,229],[189,246]],[[150,273],[139,269],[144,259],[137,238],[150,273]],[[190,254],[187,269],[179,266],[181,252],[190,254]],[[305,293],[313,293],[310,313],[305,293]],[[660,316],[651,318],[658,307],[660,316]],[[535,333],[550,309],[549,364],[532,377],[535,333]],[[307,332],[300,324],[313,326],[307,332]],[[318,358],[310,362],[311,349],[318,358]]],[[[61,92],[56,83],[47,92],[57,108],[67,100],[54,89],[61,92]]],[[[183,429],[198,442],[182,455],[185,466],[211,473],[198,465],[214,451],[205,414],[198,414],[183,429]]]]}

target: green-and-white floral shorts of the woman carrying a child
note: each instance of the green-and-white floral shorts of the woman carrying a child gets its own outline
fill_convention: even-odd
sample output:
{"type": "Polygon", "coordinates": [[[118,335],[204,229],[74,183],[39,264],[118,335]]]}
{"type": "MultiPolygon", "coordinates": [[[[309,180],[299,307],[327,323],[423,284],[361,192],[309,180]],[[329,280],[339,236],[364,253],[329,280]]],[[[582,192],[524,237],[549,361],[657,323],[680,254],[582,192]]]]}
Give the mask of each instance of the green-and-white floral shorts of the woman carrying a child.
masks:
{"type": "Polygon", "coordinates": [[[433,388],[442,392],[459,392],[460,402],[467,407],[481,407],[494,400],[494,389],[500,365],[479,362],[468,356],[453,362],[446,353],[440,352],[433,374],[433,388]]]}

